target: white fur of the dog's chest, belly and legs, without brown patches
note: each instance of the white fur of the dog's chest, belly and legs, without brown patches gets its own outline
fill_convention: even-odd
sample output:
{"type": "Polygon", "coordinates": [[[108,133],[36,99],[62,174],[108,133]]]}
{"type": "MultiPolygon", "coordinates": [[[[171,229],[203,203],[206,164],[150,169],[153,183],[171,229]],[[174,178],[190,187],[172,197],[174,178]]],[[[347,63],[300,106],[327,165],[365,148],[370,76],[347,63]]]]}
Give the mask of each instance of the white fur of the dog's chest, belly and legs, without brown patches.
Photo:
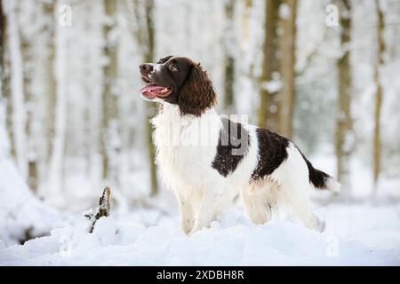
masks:
{"type": "Polygon", "coordinates": [[[258,161],[256,127],[244,125],[250,135],[248,152],[236,170],[223,177],[212,168],[222,127],[213,109],[196,117],[180,115],[178,106],[164,103],[151,122],[155,126],[156,163],[164,183],[176,194],[185,233],[208,226],[239,193],[255,224],[267,222],[272,210],[286,204],[305,225],[315,225],[309,206],[312,186],[308,167],[292,143],[287,159],[270,176],[250,183],[258,161]],[[200,138],[206,138],[207,143],[200,138]]]}

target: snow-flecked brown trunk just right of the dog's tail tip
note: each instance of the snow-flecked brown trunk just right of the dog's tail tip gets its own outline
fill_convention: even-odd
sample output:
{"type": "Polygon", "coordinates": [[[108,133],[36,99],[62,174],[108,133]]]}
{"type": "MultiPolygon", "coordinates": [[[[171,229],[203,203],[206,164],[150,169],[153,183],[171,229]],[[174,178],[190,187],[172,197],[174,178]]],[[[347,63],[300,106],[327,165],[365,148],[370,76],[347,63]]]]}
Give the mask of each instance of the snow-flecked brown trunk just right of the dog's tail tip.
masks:
{"type": "MultiPolygon", "coordinates": [[[[351,103],[351,73],[350,73],[350,31],[351,31],[351,6],[349,1],[340,1],[340,43],[342,55],[337,61],[339,75],[339,111],[336,120],[337,176],[344,188],[349,185],[349,157],[351,150],[352,119],[350,113],[351,103]]],[[[345,194],[349,194],[345,193],[345,194]]]]}

